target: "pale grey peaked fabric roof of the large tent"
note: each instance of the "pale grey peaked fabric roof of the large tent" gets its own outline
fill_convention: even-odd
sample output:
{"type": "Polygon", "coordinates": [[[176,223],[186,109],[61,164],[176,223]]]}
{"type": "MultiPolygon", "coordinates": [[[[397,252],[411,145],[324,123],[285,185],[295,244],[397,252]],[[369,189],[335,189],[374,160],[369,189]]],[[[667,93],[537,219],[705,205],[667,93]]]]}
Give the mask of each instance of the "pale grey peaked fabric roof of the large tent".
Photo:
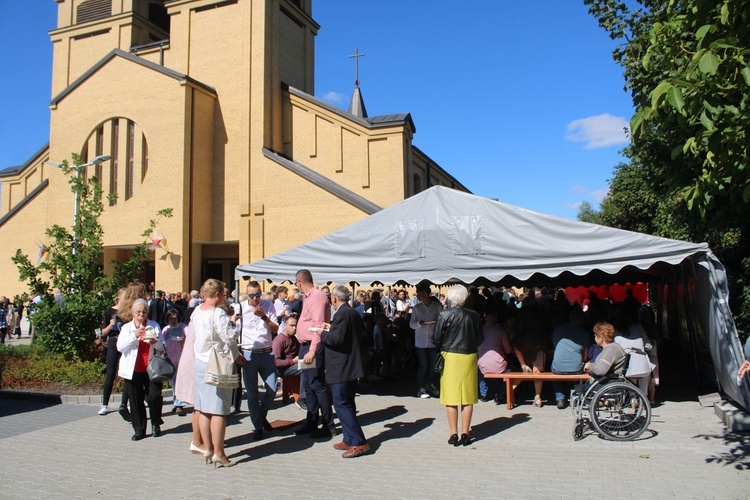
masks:
{"type": "Polygon", "coordinates": [[[318,283],[360,285],[634,282],[708,252],[706,243],[573,221],[435,186],[322,238],[238,266],[235,279],[281,283],[309,269],[318,283]]]}

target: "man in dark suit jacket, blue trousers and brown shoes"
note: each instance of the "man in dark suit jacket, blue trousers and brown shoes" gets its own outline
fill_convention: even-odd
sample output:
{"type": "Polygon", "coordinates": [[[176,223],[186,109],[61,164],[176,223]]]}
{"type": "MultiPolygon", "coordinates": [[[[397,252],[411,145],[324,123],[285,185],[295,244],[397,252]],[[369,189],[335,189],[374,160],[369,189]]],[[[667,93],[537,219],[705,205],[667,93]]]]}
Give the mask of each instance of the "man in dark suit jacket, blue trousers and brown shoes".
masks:
{"type": "Polygon", "coordinates": [[[323,324],[319,331],[325,346],[326,380],[331,384],[333,407],[341,422],[344,440],[333,447],[345,450],[344,458],[358,457],[370,451],[362,427],[357,421],[354,395],[357,379],[364,377],[362,363],[362,318],[349,305],[351,293],[345,286],[337,286],[331,293],[331,304],[336,311],[331,324],[323,324]]]}

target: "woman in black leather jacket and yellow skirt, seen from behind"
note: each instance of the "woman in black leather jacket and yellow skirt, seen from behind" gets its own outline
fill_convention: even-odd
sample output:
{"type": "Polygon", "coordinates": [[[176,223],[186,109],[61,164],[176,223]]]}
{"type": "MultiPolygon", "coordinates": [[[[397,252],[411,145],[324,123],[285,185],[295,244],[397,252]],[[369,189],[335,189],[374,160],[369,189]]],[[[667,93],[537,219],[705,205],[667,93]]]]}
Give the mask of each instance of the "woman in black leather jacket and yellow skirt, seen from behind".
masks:
{"type": "Polygon", "coordinates": [[[477,347],[484,340],[482,317],[464,306],[469,291],[463,285],[448,290],[452,308],[442,311],[435,324],[432,343],[440,348],[445,359],[440,378],[440,403],[448,415],[453,446],[468,446],[469,428],[474,404],[478,401],[477,347]],[[461,407],[461,437],[458,437],[458,407],[461,407]]]}

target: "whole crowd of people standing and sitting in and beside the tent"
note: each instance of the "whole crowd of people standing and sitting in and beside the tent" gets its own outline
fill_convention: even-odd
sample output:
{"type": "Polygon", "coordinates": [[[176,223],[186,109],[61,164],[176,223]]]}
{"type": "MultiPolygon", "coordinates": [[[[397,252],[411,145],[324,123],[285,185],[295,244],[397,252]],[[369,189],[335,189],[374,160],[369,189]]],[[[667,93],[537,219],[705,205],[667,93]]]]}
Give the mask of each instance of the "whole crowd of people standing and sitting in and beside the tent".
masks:
{"type": "MultiPolygon", "coordinates": [[[[235,297],[209,279],[200,292],[178,299],[184,310],[143,284],[121,289],[102,327],[107,377],[100,414],[109,412],[119,375],[125,381],[119,413],[132,424],[132,439],[147,435],[145,403],[151,435],[158,437],[163,384],[150,380],[147,367],[151,356],[165,351],[175,367],[173,412],[184,416],[193,406],[190,451],[215,467],[233,466],[224,436],[243,391],[206,383],[215,347],[236,360],[253,439],[273,431],[268,413],[282,377],[299,377],[297,404],[306,418],[295,434],[335,437],[335,410],[342,440],[333,447],[344,458],[370,451],[356,416],[358,384],[416,371],[416,396],[439,397],[446,407],[452,446],[471,443],[474,404],[502,402],[497,379],[485,378],[489,373],[622,372],[627,353],[626,376],[651,399],[658,384],[653,314],[632,294],[613,304],[592,292],[583,306],[568,301],[564,290],[552,296],[545,288],[519,297],[510,288],[455,285],[442,295],[421,284],[412,298],[405,289],[360,289],[352,296],[344,286],[316,286],[304,269],[292,287],[264,292],[256,281],[245,285],[235,297]]],[[[558,408],[566,406],[569,389],[555,384],[558,408]]],[[[542,404],[542,384],[535,381],[533,405],[542,404]]]]}

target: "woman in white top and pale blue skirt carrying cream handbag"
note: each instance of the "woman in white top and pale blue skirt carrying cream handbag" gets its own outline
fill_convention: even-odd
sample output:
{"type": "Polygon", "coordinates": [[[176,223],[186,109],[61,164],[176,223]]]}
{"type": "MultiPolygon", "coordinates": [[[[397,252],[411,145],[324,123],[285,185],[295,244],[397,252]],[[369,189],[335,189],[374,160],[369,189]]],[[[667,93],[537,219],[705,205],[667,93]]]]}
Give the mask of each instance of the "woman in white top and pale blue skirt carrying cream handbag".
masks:
{"type": "MultiPolygon", "coordinates": [[[[203,457],[214,467],[235,465],[224,451],[224,436],[227,415],[232,403],[232,388],[223,384],[231,374],[213,371],[216,359],[236,359],[244,364],[245,358],[238,356],[236,316],[230,318],[219,306],[226,301],[226,288],[217,279],[208,279],[201,287],[204,302],[195,308],[190,324],[195,332],[195,409],[200,411],[198,425],[206,447],[203,457]],[[224,356],[222,356],[224,355],[224,356]],[[213,359],[212,359],[213,358],[213,359]],[[211,366],[210,366],[211,365],[211,366]],[[226,375],[226,377],[222,377],[226,375]]],[[[239,377],[236,376],[237,382],[239,377]]],[[[236,384],[235,384],[236,386],[236,384]]]]}

